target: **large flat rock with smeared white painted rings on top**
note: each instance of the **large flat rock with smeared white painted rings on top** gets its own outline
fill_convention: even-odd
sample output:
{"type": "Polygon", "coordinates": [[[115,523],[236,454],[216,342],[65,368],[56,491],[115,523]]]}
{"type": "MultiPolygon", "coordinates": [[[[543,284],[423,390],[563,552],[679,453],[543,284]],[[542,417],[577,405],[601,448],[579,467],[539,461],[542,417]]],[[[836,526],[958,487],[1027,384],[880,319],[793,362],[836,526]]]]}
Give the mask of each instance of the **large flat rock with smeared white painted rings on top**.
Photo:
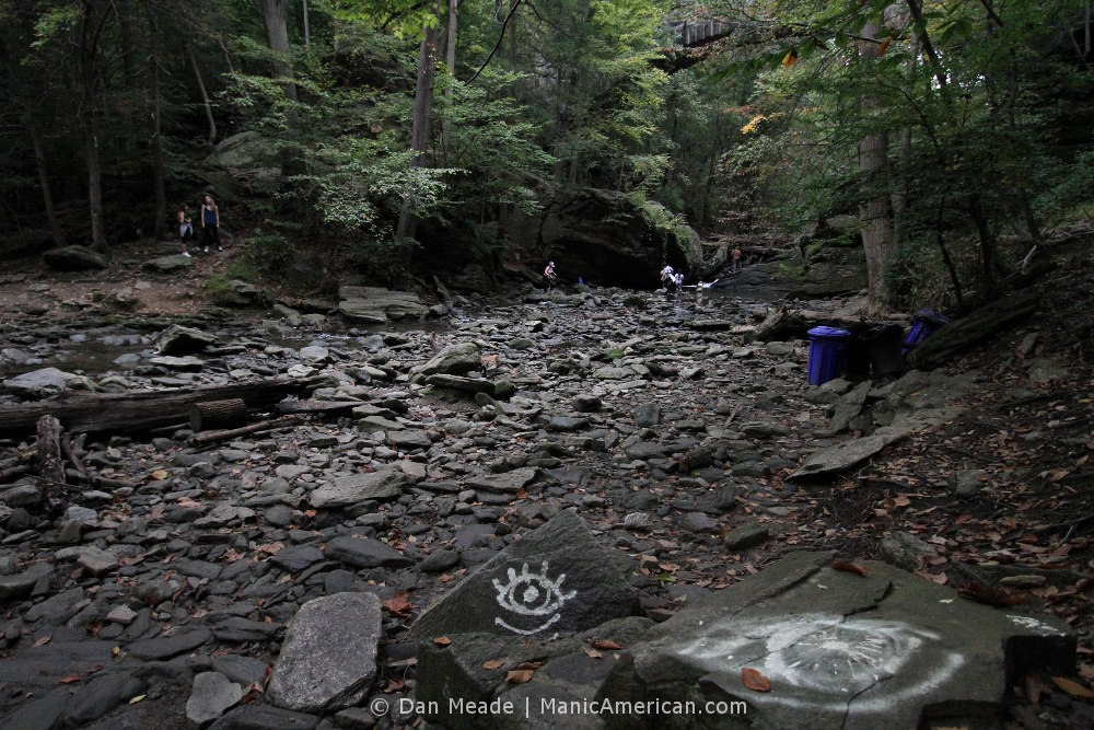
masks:
{"type": "MultiPolygon", "coordinates": [[[[793,554],[677,613],[628,650],[598,698],[743,703],[721,727],[915,728],[939,711],[958,723],[1001,711],[1009,680],[1074,664],[1075,637],[1057,619],[973,603],[884,563],[864,563],[863,577],[829,561],[793,554]],[[770,692],[745,687],[744,669],[770,692]]],[[[608,722],[624,725],[660,727],[608,722]]]]}

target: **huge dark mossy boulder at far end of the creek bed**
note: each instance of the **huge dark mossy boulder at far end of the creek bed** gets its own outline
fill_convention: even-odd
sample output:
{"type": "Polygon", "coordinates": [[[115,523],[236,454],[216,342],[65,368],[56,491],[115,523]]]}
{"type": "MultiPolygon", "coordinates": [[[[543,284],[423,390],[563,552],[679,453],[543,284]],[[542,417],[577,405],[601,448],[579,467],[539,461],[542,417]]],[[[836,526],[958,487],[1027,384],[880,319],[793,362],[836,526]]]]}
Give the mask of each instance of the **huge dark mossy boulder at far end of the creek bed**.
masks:
{"type": "Polygon", "coordinates": [[[621,193],[586,190],[523,221],[516,234],[536,241],[563,280],[649,289],[665,263],[693,277],[702,266],[695,231],[674,224],[661,206],[621,193]]]}

